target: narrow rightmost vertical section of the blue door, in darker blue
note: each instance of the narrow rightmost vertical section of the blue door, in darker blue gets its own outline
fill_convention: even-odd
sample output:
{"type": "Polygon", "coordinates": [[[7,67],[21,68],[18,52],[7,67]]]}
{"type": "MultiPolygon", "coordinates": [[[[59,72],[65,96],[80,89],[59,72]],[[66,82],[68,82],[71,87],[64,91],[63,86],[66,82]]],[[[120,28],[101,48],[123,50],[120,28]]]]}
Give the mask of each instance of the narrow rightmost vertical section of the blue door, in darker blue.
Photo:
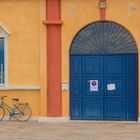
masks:
{"type": "Polygon", "coordinates": [[[126,57],[126,120],[138,118],[138,56],[126,57]]]}

